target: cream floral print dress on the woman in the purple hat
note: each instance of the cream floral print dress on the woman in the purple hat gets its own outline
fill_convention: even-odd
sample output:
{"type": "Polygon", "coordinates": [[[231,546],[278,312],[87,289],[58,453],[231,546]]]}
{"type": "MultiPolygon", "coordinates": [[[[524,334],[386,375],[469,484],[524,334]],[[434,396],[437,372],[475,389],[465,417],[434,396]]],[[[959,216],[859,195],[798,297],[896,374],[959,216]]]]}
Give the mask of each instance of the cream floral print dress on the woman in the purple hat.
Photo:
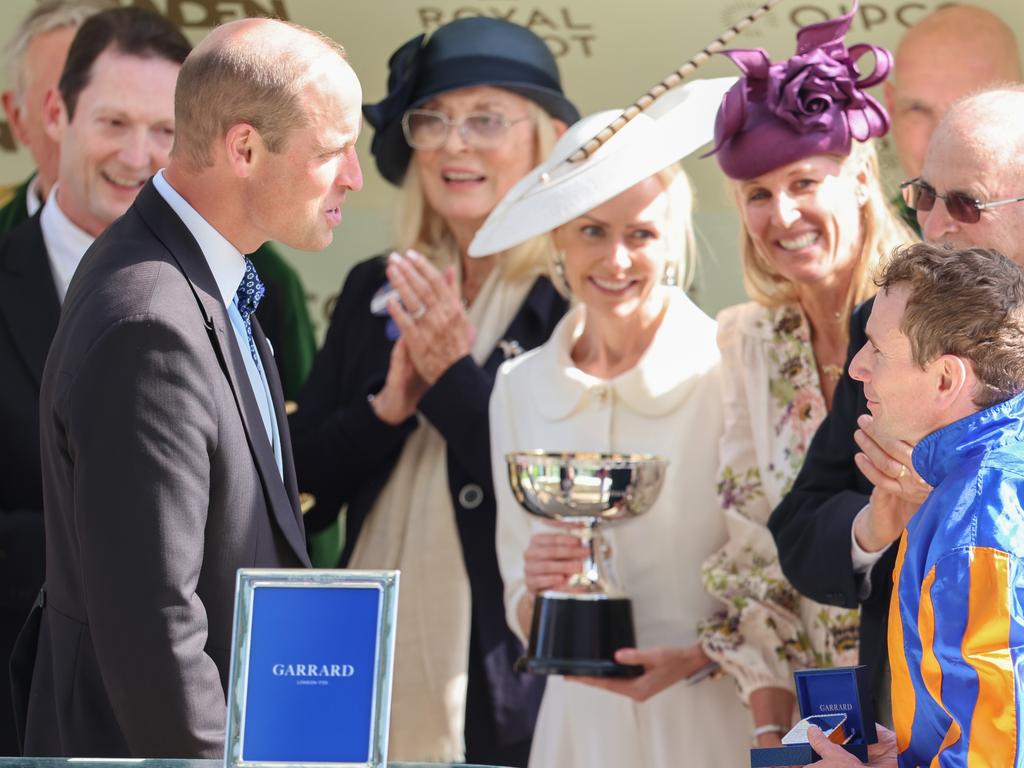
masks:
{"type": "Polygon", "coordinates": [[[810,326],[800,307],[748,303],[718,317],[725,433],[718,495],[728,542],[703,564],[724,608],[700,626],[705,651],[738,682],[793,689],[793,672],[857,663],[858,611],[798,594],[782,575],[768,516],[825,416],[810,326]]]}

